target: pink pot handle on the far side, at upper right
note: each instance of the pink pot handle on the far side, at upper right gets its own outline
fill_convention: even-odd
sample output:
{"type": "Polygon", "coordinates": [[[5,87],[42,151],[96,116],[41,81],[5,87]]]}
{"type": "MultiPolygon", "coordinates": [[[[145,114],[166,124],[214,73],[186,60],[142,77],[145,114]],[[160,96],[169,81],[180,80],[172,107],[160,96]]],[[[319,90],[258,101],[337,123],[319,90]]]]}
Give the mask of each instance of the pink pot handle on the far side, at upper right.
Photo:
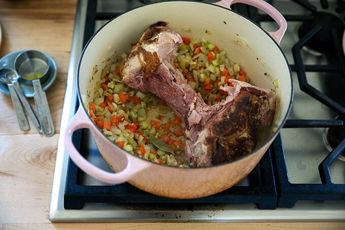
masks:
{"type": "Polygon", "coordinates": [[[231,5],[235,3],[244,3],[259,8],[260,10],[264,11],[269,16],[271,16],[274,19],[274,21],[278,23],[279,29],[277,31],[267,32],[278,44],[280,44],[285,34],[285,31],[288,27],[288,24],[283,15],[277,9],[275,9],[270,4],[264,2],[263,0],[222,0],[214,4],[231,10],[231,5]]]}

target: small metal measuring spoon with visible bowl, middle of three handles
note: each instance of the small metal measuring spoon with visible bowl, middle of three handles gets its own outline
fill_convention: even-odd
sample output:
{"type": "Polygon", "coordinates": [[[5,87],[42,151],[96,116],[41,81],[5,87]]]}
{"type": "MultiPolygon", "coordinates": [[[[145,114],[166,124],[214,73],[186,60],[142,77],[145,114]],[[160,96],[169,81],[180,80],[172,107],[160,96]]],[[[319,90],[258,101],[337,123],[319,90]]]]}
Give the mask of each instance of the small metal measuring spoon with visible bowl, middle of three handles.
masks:
{"type": "Polygon", "coordinates": [[[23,106],[26,109],[26,112],[29,115],[33,125],[37,128],[38,132],[40,134],[42,134],[41,125],[40,125],[36,115],[33,113],[31,106],[30,106],[29,102],[27,101],[26,97],[24,96],[24,93],[23,93],[23,91],[20,88],[20,85],[18,83],[19,75],[17,74],[17,72],[15,70],[12,70],[9,68],[6,68],[6,70],[7,70],[7,72],[5,73],[5,77],[13,85],[13,87],[14,87],[17,95],[19,96],[20,101],[23,103],[23,106]]]}

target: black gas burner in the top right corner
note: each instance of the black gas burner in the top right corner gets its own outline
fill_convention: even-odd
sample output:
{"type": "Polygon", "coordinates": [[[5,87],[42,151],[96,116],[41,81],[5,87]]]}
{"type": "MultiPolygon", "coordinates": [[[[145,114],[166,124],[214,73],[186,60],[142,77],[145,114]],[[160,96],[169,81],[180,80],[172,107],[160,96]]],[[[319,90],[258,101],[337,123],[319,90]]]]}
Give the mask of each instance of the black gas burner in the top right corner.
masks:
{"type": "Polygon", "coordinates": [[[331,53],[334,50],[331,30],[335,29],[341,40],[345,28],[344,22],[328,12],[314,12],[312,16],[312,20],[306,20],[299,26],[298,37],[301,39],[317,26],[322,26],[322,29],[305,44],[305,47],[319,53],[331,53]]]}

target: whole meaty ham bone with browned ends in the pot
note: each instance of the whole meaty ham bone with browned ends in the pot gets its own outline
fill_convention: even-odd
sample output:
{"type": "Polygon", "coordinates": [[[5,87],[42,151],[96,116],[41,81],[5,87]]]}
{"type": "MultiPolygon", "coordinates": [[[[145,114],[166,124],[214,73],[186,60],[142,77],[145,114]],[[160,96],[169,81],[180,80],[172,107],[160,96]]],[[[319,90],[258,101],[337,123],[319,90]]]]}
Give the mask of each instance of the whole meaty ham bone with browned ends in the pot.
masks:
{"type": "Polygon", "coordinates": [[[147,29],[121,62],[122,81],[155,93],[186,122],[186,159],[192,167],[229,162],[257,145],[258,127],[270,125],[275,94],[245,82],[233,87],[222,103],[209,106],[186,82],[172,61],[181,37],[164,22],[147,29]]]}

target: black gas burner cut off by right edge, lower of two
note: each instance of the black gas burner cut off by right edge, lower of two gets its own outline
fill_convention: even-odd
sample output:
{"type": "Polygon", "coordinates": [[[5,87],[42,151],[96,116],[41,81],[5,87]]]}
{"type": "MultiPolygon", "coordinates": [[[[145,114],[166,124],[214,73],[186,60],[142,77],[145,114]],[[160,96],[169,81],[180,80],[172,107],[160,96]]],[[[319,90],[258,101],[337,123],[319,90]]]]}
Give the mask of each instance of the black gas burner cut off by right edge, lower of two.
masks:
{"type": "MultiPolygon", "coordinates": [[[[343,123],[345,123],[345,114],[342,114],[336,118],[337,120],[341,120],[343,123]]],[[[331,151],[336,146],[340,144],[342,140],[345,139],[345,126],[334,126],[331,128],[327,128],[325,130],[325,142],[327,148],[331,151]]],[[[345,150],[342,151],[338,158],[345,161],[345,150]]]]}

